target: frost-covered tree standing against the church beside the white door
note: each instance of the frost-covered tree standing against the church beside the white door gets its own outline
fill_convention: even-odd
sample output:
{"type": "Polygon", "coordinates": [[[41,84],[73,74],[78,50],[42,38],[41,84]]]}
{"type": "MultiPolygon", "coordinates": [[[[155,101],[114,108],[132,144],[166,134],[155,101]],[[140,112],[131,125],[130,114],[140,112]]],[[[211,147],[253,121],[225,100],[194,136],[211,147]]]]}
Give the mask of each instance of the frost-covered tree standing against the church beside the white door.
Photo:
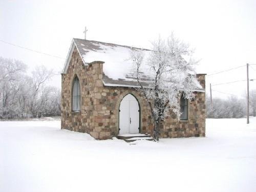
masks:
{"type": "Polygon", "coordinates": [[[194,51],[172,34],[152,43],[152,50],[132,49],[135,75],[151,109],[154,120],[154,139],[159,139],[159,127],[164,117],[174,113],[179,118],[181,96],[194,98],[198,81],[195,73],[194,51]],[[186,60],[184,59],[186,58],[186,60]]]}

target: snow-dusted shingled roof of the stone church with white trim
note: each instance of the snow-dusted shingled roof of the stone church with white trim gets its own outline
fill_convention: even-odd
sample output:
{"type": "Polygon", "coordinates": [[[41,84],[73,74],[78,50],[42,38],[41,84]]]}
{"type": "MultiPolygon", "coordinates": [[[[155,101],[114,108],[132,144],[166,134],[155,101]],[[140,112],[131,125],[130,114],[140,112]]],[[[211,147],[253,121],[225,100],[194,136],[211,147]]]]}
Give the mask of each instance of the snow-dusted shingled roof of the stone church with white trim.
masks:
{"type": "MultiPolygon", "coordinates": [[[[67,72],[70,62],[69,57],[71,57],[75,47],[77,48],[84,65],[89,65],[94,61],[104,62],[102,79],[104,86],[139,87],[136,75],[134,74],[134,63],[130,56],[131,48],[139,48],[74,38],[62,73],[67,72]]],[[[146,56],[151,50],[143,49],[143,51],[146,56]]],[[[141,77],[144,78],[143,86],[146,86],[146,81],[152,80],[152,77],[150,77],[148,73],[150,70],[147,66],[142,66],[141,69],[141,77]]],[[[199,84],[199,90],[204,90],[200,88],[201,86],[199,84]]]]}

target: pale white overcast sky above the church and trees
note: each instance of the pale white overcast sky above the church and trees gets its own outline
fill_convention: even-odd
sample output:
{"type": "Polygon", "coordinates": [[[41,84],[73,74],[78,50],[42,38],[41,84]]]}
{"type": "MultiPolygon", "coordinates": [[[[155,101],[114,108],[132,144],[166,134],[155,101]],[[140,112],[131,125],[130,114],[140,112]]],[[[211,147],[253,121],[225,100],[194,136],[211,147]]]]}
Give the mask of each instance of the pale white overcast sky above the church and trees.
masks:
{"type": "MultiPolygon", "coordinates": [[[[0,40],[66,58],[72,38],[151,48],[172,31],[196,49],[199,73],[256,63],[256,1],[6,1],[0,2],[0,40]]],[[[60,72],[65,59],[20,49],[0,41],[0,56],[45,65],[60,72]]],[[[256,79],[256,65],[249,68],[256,79]],[[252,68],[254,68],[254,70],[252,68]]],[[[51,84],[60,87],[60,75],[51,84]]],[[[246,68],[207,77],[206,86],[246,79],[246,68]]],[[[250,81],[256,89],[256,81],[250,81]]],[[[246,81],[213,90],[243,95],[246,81]]],[[[228,96],[214,91],[214,97],[228,96]]]]}

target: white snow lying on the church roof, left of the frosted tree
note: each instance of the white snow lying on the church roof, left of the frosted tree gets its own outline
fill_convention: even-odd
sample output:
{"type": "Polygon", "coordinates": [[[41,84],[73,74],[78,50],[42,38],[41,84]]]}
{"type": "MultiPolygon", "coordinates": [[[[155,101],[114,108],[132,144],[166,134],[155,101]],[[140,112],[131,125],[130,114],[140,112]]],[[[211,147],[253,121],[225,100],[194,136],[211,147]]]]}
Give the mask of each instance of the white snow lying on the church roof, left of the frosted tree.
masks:
{"type": "MultiPolygon", "coordinates": [[[[74,41],[84,62],[104,61],[103,72],[108,78],[134,80],[131,47],[84,39],[74,39],[74,41]]],[[[146,53],[150,50],[144,49],[144,51],[146,53]]],[[[147,74],[147,70],[142,73],[147,74]]]]}

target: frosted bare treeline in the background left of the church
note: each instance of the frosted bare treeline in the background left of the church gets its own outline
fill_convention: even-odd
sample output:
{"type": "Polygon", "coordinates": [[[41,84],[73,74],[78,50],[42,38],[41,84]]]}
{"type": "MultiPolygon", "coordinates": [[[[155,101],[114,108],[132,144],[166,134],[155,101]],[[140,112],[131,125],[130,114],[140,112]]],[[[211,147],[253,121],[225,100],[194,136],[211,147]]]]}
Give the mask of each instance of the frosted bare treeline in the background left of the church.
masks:
{"type": "Polygon", "coordinates": [[[31,75],[19,60],[0,57],[0,119],[60,115],[60,90],[49,86],[53,71],[36,67],[31,75]]]}

